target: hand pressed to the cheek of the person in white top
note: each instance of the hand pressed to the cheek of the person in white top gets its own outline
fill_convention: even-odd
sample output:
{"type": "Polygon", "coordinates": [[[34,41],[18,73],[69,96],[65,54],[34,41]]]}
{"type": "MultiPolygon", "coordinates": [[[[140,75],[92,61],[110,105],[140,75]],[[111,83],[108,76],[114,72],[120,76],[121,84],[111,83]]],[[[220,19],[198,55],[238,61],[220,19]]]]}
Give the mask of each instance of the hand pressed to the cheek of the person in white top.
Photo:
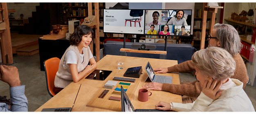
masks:
{"type": "Polygon", "coordinates": [[[203,90],[202,92],[208,96],[209,98],[216,100],[220,97],[220,94],[222,92],[218,92],[218,90],[220,89],[220,86],[222,85],[222,81],[220,81],[218,83],[218,85],[216,85],[217,80],[213,80],[213,81],[205,81],[204,82],[204,86],[203,86],[203,90]]]}

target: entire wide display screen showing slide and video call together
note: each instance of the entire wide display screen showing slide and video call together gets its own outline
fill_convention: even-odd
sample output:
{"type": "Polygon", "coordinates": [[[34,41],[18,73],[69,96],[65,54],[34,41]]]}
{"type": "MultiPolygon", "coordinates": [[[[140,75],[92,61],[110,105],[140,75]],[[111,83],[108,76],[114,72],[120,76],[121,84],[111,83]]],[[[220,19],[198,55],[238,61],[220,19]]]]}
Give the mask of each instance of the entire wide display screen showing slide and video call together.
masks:
{"type": "Polygon", "coordinates": [[[103,32],[190,37],[192,10],[104,9],[103,32]]]}

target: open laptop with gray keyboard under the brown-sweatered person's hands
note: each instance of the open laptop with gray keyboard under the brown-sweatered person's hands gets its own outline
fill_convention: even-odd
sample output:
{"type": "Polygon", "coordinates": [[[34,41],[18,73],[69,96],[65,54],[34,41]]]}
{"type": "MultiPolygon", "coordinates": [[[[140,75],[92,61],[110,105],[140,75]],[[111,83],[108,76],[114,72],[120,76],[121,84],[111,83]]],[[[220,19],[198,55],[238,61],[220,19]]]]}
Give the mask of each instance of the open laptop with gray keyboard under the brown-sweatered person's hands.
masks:
{"type": "Polygon", "coordinates": [[[169,83],[169,84],[172,84],[172,82],[173,82],[173,77],[162,76],[162,75],[155,75],[155,72],[154,72],[154,70],[151,67],[149,62],[146,65],[145,70],[146,70],[146,72],[148,74],[148,77],[149,77],[151,82],[169,83]]]}

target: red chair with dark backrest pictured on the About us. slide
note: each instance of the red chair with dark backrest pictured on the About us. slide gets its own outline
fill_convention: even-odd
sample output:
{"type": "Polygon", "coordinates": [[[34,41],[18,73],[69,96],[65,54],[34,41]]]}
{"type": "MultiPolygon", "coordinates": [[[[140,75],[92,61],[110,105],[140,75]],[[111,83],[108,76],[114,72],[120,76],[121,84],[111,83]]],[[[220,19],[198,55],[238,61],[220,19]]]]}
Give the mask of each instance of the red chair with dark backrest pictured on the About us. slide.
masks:
{"type": "Polygon", "coordinates": [[[141,16],[143,15],[143,10],[131,10],[130,11],[130,16],[132,17],[132,19],[125,19],[125,26],[126,26],[126,22],[130,22],[130,26],[132,27],[132,22],[134,22],[134,26],[136,27],[136,22],[139,23],[139,27],[140,26],[140,21],[141,21],[141,16]],[[134,18],[134,17],[140,17],[139,18],[134,18]]]}

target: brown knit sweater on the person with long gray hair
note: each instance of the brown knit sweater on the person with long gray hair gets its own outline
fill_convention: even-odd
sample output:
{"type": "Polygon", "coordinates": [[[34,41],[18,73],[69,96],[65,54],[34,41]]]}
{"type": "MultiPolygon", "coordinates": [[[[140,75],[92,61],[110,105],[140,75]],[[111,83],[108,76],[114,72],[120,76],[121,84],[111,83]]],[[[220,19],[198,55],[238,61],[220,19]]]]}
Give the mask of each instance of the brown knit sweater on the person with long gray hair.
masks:
{"type": "MultiPolygon", "coordinates": [[[[231,78],[242,81],[243,88],[245,88],[246,83],[249,81],[245,64],[243,62],[242,57],[239,54],[234,55],[233,58],[236,61],[236,71],[234,72],[234,76],[232,76],[231,78]]],[[[168,72],[191,72],[191,71],[195,71],[195,65],[192,60],[185,61],[181,64],[168,67],[168,72]]],[[[186,83],[182,85],[164,83],[162,90],[172,92],[175,94],[180,94],[180,95],[198,97],[202,91],[202,86],[199,81],[194,81],[192,83],[189,83],[189,84],[186,83]]]]}

